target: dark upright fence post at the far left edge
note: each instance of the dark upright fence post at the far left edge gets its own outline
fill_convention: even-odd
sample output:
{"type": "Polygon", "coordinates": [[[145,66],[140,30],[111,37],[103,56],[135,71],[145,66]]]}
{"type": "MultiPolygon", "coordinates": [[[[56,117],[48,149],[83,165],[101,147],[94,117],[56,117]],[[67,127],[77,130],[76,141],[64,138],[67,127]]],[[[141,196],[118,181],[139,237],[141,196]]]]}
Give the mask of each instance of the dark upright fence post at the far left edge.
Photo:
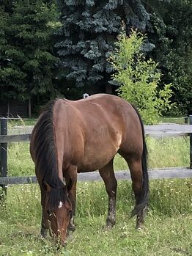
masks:
{"type": "MultiPolygon", "coordinates": [[[[0,118],[0,125],[1,125],[1,135],[7,135],[7,118],[2,117],[0,118]]],[[[7,177],[7,143],[1,143],[0,145],[0,175],[1,177],[7,177]]],[[[7,189],[3,184],[0,184],[3,187],[5,194],[7,194],[7,189]]]]}

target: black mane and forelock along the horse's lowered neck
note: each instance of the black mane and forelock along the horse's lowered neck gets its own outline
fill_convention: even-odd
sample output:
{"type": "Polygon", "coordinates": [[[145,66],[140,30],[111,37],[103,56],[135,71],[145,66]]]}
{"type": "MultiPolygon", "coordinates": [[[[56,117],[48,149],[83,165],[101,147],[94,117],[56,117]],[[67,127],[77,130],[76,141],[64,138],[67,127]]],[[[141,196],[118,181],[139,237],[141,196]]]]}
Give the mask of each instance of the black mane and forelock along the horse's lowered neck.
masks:
{"type": "Polygon", "coordinates": [[[51,187],[48,193],[48,203],[54,208],[59,202],[67,199],[67,193],[62,180],[58,176],[56,159],[56,144],[53,133],[53,106],[56,100],[50,101],[43,109],[34,127],[34,154],[37,172],[43,177],[43,185],[51,187]]]}

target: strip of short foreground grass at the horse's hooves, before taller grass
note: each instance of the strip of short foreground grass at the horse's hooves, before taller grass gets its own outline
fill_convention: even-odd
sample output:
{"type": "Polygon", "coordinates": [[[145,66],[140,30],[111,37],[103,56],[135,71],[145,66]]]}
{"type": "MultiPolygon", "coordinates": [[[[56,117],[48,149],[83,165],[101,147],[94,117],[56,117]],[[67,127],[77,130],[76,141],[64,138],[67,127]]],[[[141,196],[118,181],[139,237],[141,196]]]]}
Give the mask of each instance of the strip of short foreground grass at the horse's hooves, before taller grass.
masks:
{"type": "MultiPolygon", "coordinates": [[[[118,215],[117,215],[118,217],[118,215]]],[[[106,231],[103,217],[77,218],[78,230],[70,237],[67,248],[56,250],[50,239],[39,237],[37,225],[12,224],[3,227],[1,235],[1,255],[77,255],[77,256],[182,256],[192,254],[191,217],[174,218],[150,214],[144,230],[134,230],[127,216],[119,216],[121,222],[106,231]],[[163,230],[163,231],[162,231],[163,230]],[[3,235],[3,236],[2,236],[3,235]],[[4,244],[6,244],[4,246],[4,244]]]]}

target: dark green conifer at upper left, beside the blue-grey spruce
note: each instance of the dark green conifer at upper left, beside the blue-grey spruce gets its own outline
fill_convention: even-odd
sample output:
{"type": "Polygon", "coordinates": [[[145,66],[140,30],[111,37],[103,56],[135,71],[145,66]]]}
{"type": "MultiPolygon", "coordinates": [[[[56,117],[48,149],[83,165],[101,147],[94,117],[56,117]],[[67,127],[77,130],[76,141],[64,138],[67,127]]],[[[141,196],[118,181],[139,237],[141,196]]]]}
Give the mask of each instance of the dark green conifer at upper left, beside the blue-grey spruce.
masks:
{"type": "Polygon", "coordinates": [[[55,5],[43,0],[17,0],[11,12],[5,10],[1,7],[1,98],[26,100],[32,95],[54,95],[57,59],[51,33],[56,21],[55,5]]]}

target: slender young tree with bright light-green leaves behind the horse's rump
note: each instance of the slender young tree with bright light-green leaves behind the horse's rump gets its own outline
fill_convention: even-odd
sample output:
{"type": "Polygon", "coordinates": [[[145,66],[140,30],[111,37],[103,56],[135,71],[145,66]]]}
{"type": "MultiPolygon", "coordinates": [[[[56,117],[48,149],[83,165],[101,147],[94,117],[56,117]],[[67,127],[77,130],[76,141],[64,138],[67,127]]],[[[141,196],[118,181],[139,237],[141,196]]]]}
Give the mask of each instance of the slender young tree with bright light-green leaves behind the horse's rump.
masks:
{"type": "Polygon", "coordinates": [[[145,37],[132,31],[130,37],[119,35],[117,49],[110,57],[116,73],[112,76],[120,84],[119,96],[135,104],[145,123],[158,121],[162,111],[171,108],[171,84],[159,89],[160,72],[152,59],[141,52],[145,37]]]}

